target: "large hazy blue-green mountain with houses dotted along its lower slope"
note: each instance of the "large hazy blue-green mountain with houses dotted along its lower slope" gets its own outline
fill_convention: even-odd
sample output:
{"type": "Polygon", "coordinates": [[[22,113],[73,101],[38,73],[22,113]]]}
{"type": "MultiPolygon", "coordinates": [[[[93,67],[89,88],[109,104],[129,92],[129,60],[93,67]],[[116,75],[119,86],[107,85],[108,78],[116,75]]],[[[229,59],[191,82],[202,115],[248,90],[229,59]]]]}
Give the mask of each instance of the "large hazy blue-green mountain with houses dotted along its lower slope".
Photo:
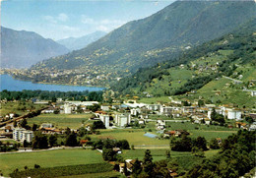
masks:
{"type": "Polygon", "coordinates": [[[220,37],[255,17],[254,1],[176,1],[160,12],[111,31],[87,47],[50,58],[33,70],[79,69],[122,77],[220,37]]]}

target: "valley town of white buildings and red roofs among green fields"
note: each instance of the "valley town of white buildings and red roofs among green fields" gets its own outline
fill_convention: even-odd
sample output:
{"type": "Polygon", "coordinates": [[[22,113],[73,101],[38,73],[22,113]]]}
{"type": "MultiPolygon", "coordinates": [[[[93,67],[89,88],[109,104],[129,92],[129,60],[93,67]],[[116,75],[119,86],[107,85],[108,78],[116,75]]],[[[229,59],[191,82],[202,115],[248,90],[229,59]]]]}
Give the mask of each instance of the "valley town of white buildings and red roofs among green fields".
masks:
{"type": "MultiPolygon", "coordinates": [[[[104,160],[115,160],[112,163],[114,167],[119,165],[115,171],[128,175],[133,173],[133,164],[139,160],[134,155],[124,156],[125,149],[163,151],[170,148],[175,151],[170,144],[174,138],[204,138],[204,147],[207,148],[193,153],[204,157],[211,149],[221,148],[224,139],[236,131],[256,130],[253,109],[236,108],[231,104],[205,104],[200,99],[194,102],[168,99],[168,102],[144,103],[138,96],[127,96],[122,100],[113,98],[111,103],[107,103],[61,97],[53,100],[32,98],[23,103],[25,107],[27,104],[31,107],[27,106],[23,115],[21,109],[19,113],[1,115],[1,152],[97,149],[104,160]],[[110,141],[115,143],[110,144],[113,154],[106,156],[106,149],[102,146],[110,141]],[[127,164],[125,171],[124,160],[127,164]]],[[[3,99],[1,109],[4,111],[5,105],[18,103],[21,101],[3,99]]],[[[179,175],[174,170],[169,173],[172,177],[179,175]]]]}

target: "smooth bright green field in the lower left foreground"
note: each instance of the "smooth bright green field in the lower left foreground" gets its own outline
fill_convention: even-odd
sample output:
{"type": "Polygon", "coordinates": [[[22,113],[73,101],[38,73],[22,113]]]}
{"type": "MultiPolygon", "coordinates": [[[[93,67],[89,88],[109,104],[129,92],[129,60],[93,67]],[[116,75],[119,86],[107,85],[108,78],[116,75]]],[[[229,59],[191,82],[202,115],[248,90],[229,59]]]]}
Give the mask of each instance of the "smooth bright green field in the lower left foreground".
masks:
{"type": "Polygon", "coordinates": [[[26,165],[29,168],[33,168],[34,164],[38,164],[41,167],[55,167],[100,163],[102,161],[101,153],[91,149],[76,148],[7,153],[0,154],[0,170],[7,176],[16,168],[23,170],[26,165]]]}

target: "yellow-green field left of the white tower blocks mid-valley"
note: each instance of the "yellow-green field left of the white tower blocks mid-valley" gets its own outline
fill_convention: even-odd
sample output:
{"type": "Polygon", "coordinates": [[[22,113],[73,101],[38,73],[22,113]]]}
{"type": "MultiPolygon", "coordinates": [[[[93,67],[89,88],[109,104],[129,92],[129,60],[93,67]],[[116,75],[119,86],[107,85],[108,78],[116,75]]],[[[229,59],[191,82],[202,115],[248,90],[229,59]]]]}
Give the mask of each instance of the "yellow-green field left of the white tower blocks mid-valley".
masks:
{"type": "Polygon", "coordinates": [[[28,124],[40,125],[42,123],[52,123],[59,129],[79,129],[82,126],[82,121],[87,122],[92,117],[92,114],[41,114],[37,117],[28,119],[28,124]]]}

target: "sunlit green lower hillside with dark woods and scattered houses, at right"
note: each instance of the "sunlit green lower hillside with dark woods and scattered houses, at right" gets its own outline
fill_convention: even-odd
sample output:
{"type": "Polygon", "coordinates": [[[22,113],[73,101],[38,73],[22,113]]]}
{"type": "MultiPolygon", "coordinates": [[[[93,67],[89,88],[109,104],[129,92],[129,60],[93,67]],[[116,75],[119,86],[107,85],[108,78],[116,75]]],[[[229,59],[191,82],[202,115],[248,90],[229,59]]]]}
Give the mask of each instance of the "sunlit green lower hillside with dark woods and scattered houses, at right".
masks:
{"type": "Polygon", "coordinates": [[[177,99],[205,98],[209,103],[255,105],[250,90],[256,85],[256,19],[222,37],[183,52],[173,61],[140,69],[111,89],[119,94],[176,95],[177,99]]]}

